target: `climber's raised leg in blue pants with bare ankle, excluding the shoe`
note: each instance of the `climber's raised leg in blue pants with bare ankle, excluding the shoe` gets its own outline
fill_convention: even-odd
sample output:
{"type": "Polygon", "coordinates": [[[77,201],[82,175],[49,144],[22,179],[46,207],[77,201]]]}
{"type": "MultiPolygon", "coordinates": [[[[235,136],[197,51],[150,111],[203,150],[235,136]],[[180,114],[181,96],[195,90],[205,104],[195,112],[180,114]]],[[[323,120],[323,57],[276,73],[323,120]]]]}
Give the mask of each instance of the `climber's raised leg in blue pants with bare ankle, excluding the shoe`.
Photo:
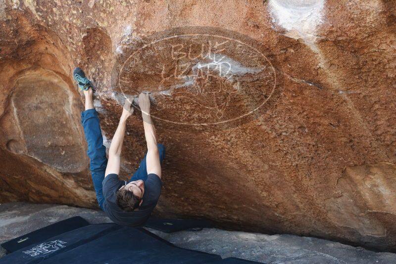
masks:
{"type": "Polygon", "coordinates": [[[103,137],[100,130],[98,112],[94,108],[92,89],[84,90],[85,111],[81,112],[81,123],[84,128],[85,138],[88,143],[88,157],[92,181],[98,199],[99,207],[103,210],[102,181],[106,171],[106,147],[103,146],[103,137]]]}

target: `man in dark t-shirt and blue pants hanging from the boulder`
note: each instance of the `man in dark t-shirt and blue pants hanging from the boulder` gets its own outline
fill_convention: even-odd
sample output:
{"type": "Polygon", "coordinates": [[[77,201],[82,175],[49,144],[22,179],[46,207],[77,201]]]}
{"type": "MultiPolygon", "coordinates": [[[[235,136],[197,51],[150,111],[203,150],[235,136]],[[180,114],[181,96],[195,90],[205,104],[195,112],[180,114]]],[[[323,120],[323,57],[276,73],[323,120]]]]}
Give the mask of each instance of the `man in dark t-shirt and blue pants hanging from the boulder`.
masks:
{"type": "Polygon", "coordinates": [[[98,113],[94,108],[91,82],[80,68],[73,72],[74,80],[85,95],[85,111],[81,113],[88,143],[87,154],[99,207],[115,223],[121,225],[143,225],[157,204],[161,194],[161,163],[165,147],[157,144],[154,126],[150,117],[148,93],[139,95],[148,151],[139,169],[129,181],[120,180],[120,156],[124,141],[126,121],[132,115],[132,102],[126,99],[117,130],[111,140],[106,158],[106,148],[99,125],[98,113]]]}

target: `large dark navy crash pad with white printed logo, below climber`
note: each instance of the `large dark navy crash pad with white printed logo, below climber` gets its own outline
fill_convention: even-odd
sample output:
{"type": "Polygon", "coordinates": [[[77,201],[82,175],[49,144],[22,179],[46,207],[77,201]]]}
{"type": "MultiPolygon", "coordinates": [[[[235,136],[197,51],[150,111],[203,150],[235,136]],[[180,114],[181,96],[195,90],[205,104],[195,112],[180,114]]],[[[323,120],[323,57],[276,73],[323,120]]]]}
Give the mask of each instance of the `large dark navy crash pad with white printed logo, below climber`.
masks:
{"type": "MultiPolygon", "coordinates": [[[[58,223],[61,222],[63,221],[58,223]]],[[[53,227],[53,225],[49,226],[53,227]]],[[[36,239],[45,237],[41,236],[40,232],[45,230],[48,235],[49,226],[32,233],[35,233],[36,239]]],[[[57,234],[0,259],[0,264],[37,263],[248,264],[256,262],[237,258],[222,260],[218,255],[176,247],[143,228],[102,223],[85,225],[57,234]]]]}

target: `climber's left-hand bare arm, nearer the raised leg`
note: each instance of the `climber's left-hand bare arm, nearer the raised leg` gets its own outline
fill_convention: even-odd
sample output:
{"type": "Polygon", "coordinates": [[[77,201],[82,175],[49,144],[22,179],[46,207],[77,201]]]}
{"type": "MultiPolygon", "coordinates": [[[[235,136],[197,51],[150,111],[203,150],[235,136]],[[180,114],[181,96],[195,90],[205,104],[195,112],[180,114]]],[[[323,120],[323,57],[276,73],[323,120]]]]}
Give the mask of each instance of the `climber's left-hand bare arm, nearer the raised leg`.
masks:
{"type": "Polygon", "coordinates": [[[119,174],[120,172],[120,161],[121,161],[121,149],[124,141],[125,128],[127,119],[133,113],[133,107],[131,102],[127,99],[124,104],[120,123],[118,124],[117,130],[114,133],[113,139],[111,140],[110,148],[108,150],[108,161],[105,176],[109,174],[119,174]]]}

